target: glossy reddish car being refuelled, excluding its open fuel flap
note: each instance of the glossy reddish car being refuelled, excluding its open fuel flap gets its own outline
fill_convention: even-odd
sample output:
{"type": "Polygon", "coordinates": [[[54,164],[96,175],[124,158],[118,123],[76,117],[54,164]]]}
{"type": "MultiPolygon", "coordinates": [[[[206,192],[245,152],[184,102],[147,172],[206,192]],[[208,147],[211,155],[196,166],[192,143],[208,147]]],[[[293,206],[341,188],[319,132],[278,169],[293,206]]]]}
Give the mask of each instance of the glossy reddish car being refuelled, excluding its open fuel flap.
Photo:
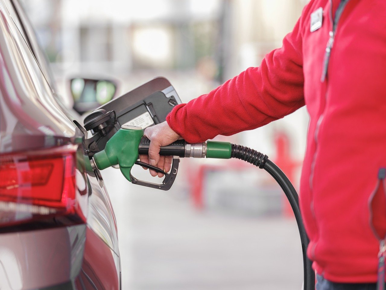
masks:
{"type": "Polygon", "coordinates": [[[17,0],[0,0],[0,289],[121,288],[117,223],[17,0]]]}

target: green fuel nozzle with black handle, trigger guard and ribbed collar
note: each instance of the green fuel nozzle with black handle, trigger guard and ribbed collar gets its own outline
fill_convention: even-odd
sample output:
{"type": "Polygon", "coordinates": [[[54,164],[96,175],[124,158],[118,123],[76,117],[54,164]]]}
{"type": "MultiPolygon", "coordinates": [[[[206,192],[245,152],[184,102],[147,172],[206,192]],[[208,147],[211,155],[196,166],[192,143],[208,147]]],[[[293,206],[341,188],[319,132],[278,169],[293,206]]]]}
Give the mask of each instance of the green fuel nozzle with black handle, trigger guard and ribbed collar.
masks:
{"type": "Polygon", "coordinates": [[[94,154],[91,164],[94,165],[95,169],[100,170],[119,165],[120,171],[131,183],[168,190],[171,188],[177,175],[180,157],[238,158],[260,168],[264,166],[265,160],[268,158],[256,150],[229,142],[207,141],[190,144],[185,140],[178,140],[170,145],[161,147],[159,152],[160,155],[173,156],[171,171],[168,173],[164,172],[161,168],[138,161],[139,154],[149,154],[150,140],[143,136],[143,134],[144,131],[140,127],[122,125],[122,128],[108,140],[105,149],[94,154]],[[132,176],[131,169],[135,164],[164,174],[165,178],[162,184],[141,181],[132,176]]]}

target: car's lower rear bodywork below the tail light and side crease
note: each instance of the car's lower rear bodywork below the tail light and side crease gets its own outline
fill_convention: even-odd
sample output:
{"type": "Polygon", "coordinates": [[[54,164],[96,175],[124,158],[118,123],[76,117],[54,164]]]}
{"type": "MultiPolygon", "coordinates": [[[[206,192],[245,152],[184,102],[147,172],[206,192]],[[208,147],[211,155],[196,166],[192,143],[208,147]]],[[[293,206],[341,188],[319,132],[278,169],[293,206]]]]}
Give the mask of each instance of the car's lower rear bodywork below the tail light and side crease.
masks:
{"type": "Polygon", "coordinates": [[[0,289],[55,285],[119,290],[119,256],[86,225],[1,235],[0,289]]]}

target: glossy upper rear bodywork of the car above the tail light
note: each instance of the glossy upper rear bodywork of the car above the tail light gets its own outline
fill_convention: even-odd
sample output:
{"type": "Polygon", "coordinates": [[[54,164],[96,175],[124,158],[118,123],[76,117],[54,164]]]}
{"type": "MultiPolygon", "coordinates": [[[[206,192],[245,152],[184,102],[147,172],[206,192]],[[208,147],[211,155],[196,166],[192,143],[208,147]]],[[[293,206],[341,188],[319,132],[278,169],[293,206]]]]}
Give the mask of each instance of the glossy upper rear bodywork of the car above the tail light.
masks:
{"type": "Polygon", "coordinates": [[[0,153],[71,143],[76,126],[0,2],[0,153]]]}

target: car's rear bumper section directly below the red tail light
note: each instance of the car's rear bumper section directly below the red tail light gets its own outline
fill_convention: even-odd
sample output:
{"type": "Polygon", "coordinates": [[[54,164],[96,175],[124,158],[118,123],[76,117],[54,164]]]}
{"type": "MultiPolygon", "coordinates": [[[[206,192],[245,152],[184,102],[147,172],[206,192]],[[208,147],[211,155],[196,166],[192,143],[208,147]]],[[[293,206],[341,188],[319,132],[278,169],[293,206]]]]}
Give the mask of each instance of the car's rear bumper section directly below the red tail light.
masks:
{"type": "Polygon", "coordinates": [[[85,237],[86,225],[2,234],[0,288],[27,290],[70,281],[81,269],[85,237]]]}

